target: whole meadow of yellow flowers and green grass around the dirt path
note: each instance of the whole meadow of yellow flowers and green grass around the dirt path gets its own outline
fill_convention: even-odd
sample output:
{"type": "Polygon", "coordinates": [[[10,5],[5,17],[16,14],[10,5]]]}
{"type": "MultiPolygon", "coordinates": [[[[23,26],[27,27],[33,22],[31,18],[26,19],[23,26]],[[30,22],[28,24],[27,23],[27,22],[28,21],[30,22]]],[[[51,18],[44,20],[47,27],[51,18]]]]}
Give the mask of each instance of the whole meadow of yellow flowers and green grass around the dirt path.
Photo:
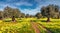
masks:
{"type": "Polygon", "coordinates": [[[0,33],[35,33],[31,20],[39,24],[38,28],[41,33],[47,33],[46,29],[51,33],[60,33],[60,19],[51,19],[51,22],[45,22],[46,18],[16,18],[16,22],[12,22],[11,18],[0,20],[0,33]]]}

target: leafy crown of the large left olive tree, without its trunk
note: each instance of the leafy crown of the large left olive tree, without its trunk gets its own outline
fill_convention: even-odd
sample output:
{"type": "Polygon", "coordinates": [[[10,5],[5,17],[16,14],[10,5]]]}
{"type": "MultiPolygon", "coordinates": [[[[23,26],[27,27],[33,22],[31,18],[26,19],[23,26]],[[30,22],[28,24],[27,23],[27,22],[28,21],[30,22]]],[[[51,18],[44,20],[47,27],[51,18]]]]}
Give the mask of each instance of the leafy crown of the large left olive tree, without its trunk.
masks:
{"type": "Polygon", "coordinates": [[[13,16],[19,17],[20,15],[20,10],[19,9],[14,9],[11,7],[5,7],[3,11],[0,11],[0,17],[1,18],[11,18],[13,16]]]}

